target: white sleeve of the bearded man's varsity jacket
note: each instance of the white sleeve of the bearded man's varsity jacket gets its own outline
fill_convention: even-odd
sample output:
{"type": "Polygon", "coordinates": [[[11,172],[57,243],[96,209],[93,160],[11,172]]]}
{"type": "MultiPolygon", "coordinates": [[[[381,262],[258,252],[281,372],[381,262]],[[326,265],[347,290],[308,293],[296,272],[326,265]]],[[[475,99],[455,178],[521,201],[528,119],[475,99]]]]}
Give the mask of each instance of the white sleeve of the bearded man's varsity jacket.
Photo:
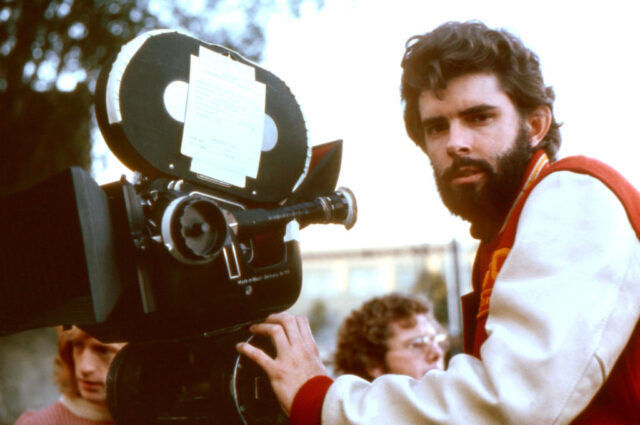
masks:
{"type": "Polygon", "coordinates": [[[339,377],[324,425],[566,424],[596,394],[640,314],[640,244],[600,181],[556,172],[531,193],[490,301],[481,358],[421,380],[339,377]]]}

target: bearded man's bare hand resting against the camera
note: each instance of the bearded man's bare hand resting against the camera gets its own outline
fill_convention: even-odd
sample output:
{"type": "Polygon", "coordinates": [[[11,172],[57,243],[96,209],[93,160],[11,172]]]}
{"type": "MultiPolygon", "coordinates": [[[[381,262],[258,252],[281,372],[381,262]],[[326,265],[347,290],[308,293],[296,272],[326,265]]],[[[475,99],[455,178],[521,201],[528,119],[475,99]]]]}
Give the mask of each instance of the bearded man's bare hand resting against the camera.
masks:
{"type": "Polygon", "coordinates": [[[237,350],[264,369],[280,404],[289,414],[300,387],[314,376],[327,374],[320,361],[309,321],[303,316],[272,314],[249,330],[271,337],[276,347],[276,358],[247,343],[238,344],[237,350]]]}

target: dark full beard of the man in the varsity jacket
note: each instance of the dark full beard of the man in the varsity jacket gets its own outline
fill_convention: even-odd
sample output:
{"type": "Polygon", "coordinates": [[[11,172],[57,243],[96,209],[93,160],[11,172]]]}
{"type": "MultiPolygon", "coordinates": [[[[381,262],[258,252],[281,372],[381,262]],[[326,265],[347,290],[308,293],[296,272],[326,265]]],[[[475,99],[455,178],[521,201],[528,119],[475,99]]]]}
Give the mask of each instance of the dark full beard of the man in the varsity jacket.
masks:
{"type": "Polygon", "coordinates": [[[487,233],[493,233],[502,224],[511,208],[531,156],[530,135],[522,122],[513,147],[498,158],[495,171],[485,160],[456,157],[442,176],[434,172],[442,202],[453,214],[471,222],[476,228],[473,232],[472,227],[472,233],[477,233],[474,236],[481,239],[491,236],[487,233]],[[451,185],[453,176],[463,166],[477,167],[486,173],[485,183],[479,188],[473,183],[451,185]]]}

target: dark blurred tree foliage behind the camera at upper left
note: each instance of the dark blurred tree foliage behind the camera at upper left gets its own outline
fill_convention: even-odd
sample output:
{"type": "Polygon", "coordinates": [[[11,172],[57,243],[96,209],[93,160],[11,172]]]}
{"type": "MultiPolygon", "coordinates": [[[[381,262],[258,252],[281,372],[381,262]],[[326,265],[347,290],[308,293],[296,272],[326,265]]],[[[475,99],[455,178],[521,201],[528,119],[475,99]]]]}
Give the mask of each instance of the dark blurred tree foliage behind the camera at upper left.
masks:
{"type": "Polygon", "coordinates": [[[259,60],[269,14],[324,0],[0,0],[0,194],[91,166],[101,64],[140,32],[184,29],[259,60]]]}

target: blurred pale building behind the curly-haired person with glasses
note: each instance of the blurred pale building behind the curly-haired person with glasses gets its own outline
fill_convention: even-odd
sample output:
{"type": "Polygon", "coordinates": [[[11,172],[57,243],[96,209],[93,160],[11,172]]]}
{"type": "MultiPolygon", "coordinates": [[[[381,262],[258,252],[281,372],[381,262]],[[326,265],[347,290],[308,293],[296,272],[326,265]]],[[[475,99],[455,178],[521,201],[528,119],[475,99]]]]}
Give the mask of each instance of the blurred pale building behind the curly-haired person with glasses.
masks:
{"type": "Polygon", "coordinates": [[[476,246],[457,241],[443,245],[303,253],[303,283],[289,310],[309,317],[327,364],[338,327],[351,310],[390,292],[425,296],[436,318],[448,329],[452,351],[461,350],[460,295],[471,290],[476,246]]]}

